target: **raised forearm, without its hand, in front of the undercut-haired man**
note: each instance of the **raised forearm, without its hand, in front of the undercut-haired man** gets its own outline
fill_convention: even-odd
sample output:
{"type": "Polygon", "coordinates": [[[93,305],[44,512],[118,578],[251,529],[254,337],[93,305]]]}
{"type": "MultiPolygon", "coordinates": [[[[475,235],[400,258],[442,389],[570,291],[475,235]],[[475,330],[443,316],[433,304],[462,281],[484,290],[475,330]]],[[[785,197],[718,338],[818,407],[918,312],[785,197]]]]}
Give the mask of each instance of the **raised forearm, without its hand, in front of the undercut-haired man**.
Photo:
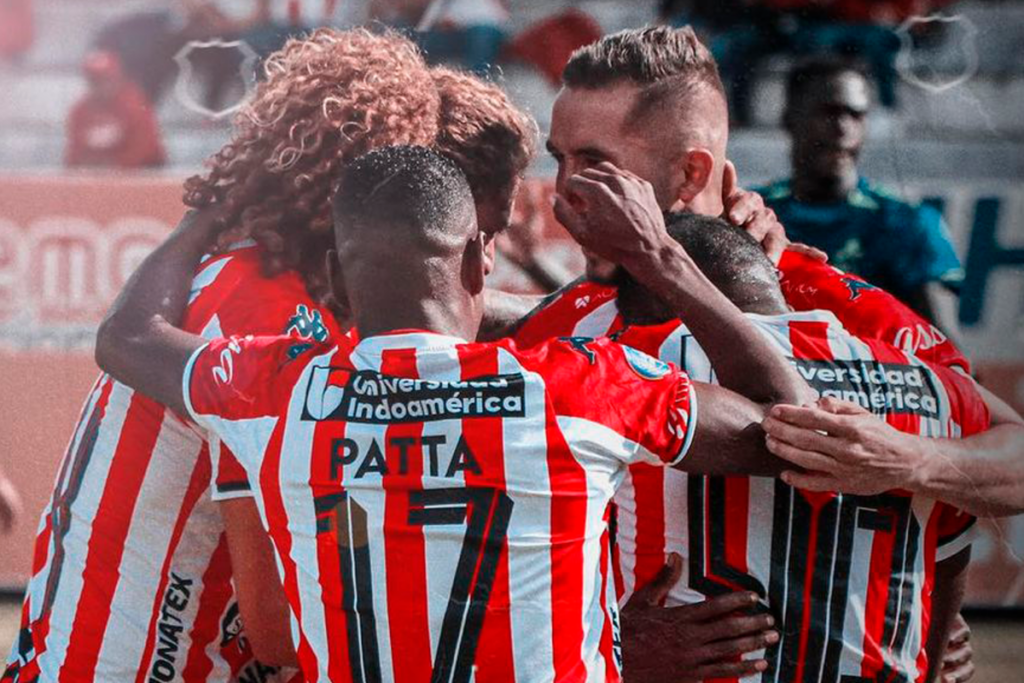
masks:
{"type": "Polygon", "coordinates": [[[645,265],[630,267],[630,272],[685,321],[723,387],[759,403],[813,400],[810,387],[778,348],[700,272],[681,247],[666,244],[645,261],[645,265]]]}

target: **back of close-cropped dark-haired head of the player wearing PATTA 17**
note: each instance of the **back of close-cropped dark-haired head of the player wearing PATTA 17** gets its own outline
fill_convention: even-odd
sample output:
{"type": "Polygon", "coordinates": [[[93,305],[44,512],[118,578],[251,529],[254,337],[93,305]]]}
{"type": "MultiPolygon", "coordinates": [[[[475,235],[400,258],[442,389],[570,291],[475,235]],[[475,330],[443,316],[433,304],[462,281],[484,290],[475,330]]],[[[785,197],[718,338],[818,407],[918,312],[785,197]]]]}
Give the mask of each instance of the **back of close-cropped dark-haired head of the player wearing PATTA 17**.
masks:
{"type": "Polygon", "coordinates": [[[483,288],[483,243],[466,176],[423,146],[371,152],[342,171],[334,198],[341,274],[335,295],[360,333],[434,329],[475,337],[483,288]],[[474,318],[475,317],[475,322],[474,318]],[[472,330],[470,330],[472,328],[472,330]]]}

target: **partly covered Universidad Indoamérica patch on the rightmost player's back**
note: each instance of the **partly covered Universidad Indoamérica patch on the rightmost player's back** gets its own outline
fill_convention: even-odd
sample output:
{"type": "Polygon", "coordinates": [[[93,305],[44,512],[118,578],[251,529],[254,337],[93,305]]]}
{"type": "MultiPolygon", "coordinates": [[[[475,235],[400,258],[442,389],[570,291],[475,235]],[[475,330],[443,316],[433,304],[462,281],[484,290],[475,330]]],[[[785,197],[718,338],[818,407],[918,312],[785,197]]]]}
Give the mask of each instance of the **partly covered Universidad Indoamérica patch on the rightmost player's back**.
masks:
{"type": "Polygon", "coordinates": [[[931,372],[920,366],[877,360],[795,360],[801,376],[822,396],[858,403],[877,415],[940,417],[940,394],[931,372]]]}

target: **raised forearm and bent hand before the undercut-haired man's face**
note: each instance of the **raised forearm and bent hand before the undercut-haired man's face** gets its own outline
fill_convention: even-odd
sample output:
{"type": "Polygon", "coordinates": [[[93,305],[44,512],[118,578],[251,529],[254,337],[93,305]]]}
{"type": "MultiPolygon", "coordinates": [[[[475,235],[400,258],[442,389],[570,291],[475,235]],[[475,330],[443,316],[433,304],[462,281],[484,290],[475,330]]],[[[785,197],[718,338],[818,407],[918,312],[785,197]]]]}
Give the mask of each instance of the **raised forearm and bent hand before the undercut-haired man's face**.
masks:
{"type": "Polygon", "coordinates": [[[742,312],[669,237],[650,183],[602,163],[570,177],[555,215],[584,248],[622,264],[678,311],[723,387],[761,403],[801,404],[816,394],[742,312]],[[735,352],[742,349],[742,353],[735,352]]]}

